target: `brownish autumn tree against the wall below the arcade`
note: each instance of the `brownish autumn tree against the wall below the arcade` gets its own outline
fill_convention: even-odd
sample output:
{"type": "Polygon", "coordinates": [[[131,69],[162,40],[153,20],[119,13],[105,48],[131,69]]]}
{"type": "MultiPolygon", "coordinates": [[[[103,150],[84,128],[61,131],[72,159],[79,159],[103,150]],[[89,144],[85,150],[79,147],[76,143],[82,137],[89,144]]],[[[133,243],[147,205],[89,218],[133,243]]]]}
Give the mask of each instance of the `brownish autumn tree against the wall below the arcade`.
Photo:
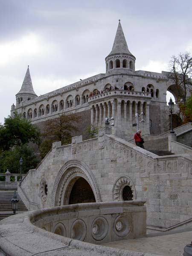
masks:
{"type": "Polygon", "coordinates": [[[41,157],[51,150],[52,143],[61,141],[62,145],[71,143],[72,134],[79,131],[80,117],[77,114],[61,114],[59,117],[44,122],[44,140],[40,145],[41,157]]]}

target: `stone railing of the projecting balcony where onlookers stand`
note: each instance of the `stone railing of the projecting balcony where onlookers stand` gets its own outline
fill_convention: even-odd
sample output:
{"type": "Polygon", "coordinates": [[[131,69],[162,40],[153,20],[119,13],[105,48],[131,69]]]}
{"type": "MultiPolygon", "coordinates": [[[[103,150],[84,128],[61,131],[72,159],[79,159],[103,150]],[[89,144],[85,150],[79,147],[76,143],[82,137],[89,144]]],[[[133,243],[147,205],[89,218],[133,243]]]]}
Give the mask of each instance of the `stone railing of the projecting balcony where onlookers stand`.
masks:
{"type": "Polygon", "coordinates": [[[123,96],[123,97],[142,97],[144,99],[150,99],[151,98],[151,93],[146,93],[146,92],[137,92],[137,91],[128,91],[128,90],[110,90],[104,93],[99,93],[94,96],[91,96],[88,98],[88,102],[94,102],[98,101],[101,99],[106,99],[109,97],[118,97],[118,96],[123,96]]]}

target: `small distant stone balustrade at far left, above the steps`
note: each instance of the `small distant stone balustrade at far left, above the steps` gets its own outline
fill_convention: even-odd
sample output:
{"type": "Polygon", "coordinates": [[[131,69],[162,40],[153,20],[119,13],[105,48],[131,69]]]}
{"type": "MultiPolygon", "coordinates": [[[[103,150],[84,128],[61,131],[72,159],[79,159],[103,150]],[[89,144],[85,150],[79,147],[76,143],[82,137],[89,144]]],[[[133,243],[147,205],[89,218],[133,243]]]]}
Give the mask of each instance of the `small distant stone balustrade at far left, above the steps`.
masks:
{"type": "MultiPolygon", "coordinates": [[[[19,180],[20,174],[18,173],[0,173],[0,189],[17,189],[17,180],[19,180]],[[11,178],[12,177],[12,178],[11,178]]],[[[25,177],[24,174],[21,175],[22,179],[25,177]]]]}

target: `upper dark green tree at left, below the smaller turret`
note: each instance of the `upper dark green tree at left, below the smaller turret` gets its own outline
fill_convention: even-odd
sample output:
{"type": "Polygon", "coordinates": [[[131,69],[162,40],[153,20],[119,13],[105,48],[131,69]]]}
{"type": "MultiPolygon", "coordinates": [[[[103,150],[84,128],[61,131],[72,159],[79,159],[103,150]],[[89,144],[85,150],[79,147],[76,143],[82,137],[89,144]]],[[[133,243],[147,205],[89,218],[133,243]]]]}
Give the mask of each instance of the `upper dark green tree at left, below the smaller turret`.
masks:
{"type": "Polygon", "coordinates": [[[29,141],[40,143],[40,130],[20,114],[5,118],[4,125],[0,125],[0,149],[5,151],[13,146],[20,146],[29,141]]]}

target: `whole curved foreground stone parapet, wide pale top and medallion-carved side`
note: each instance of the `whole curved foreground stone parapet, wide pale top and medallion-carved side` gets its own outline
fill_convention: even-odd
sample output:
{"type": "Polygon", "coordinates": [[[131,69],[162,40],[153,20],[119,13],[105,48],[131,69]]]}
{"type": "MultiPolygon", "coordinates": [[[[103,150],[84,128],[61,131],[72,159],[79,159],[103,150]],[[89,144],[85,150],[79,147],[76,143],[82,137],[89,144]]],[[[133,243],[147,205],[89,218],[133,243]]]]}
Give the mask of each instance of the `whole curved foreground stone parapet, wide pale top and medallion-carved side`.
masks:
{"type": "Polygon", "coordinates": [[[11,216],[0,221],[0,252],[10,256],[147,256],[96,245],[145,236],[144,203],[134,200],[73,204],[11,216]]]}

